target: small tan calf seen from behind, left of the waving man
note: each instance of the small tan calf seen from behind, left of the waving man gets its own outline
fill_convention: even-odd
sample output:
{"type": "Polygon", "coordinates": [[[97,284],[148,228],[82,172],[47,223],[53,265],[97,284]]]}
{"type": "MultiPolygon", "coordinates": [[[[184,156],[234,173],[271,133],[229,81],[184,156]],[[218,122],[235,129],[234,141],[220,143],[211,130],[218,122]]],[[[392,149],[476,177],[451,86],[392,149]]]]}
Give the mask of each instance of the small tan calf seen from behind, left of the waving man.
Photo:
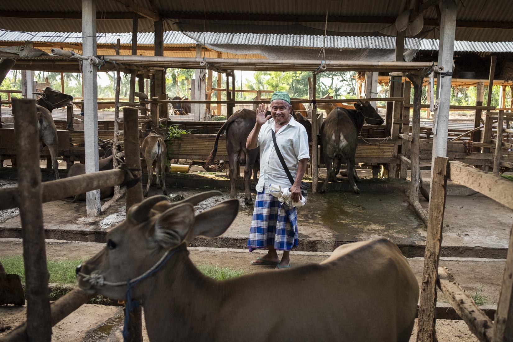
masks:
{"type": "Polygon", "coordinates": [[[167,195],[166,190],[166,163],[167,163],[167,149],[164,138],[155,131],[151,131],[144,140],[141,146],[141,153],[143,154],[146,162],[146,170],[148,171],[148,184],[146,185],[145,196],[148,196],[150,191],[151,179],[153,179],[153,170],[157,186],[159,183],[159,173],[162,177],[162,192],[167,195]]]}

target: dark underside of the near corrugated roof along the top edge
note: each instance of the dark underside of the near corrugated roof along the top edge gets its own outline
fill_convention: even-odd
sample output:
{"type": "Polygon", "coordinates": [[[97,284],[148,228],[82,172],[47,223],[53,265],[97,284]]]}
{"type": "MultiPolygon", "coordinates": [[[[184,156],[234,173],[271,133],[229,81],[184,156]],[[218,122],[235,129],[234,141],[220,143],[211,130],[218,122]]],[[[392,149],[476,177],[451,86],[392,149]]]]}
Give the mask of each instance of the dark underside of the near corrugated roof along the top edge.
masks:
{"type": "MultiPolygon", "coordinates": [[[[458,8],[458,20],[483,21],[489,23],[511,23],[513,18],[513,6],[511,0],[455,0],[458,8]]],[[[323,16],[328,10],[328,31],[339,32],[339,35],[350,35],[346,33],[371,35],[370,32],[380,31],[382,34],[395,35],[395,29],[390,25],[376,23],[329,23],[329,16],[366,16],[366,17],[397,17],[407,0],[383,1],[383,0],[344,0],[327,1],[326,3],[314,1],[275,0],[240,1],[240,0],[135,0],[150,10],[180,13],[204,13],[206,12],[207,30],[211,32],[230,32],[223,29],[226,26],[238,26],[238,32],[253,33],[284,33],[276,26],[277,22],[254,22],[248,14],[277,14],[277,15],[316,15],[323,16]],[[209,13],[225,13],[240,15],[237,21],[223,21],[209,19],[209,13]],[[254,31],[260,29],[258,25],[268,26],[270,31],[254,31]]],[[[96,2],[97,11],[100,13],[127,13],[130,12],[124,5],[116,1],[96,2]]],[[[4,0],[0,2],[0,11],[25,11],[30,14],[37,12],[48,12],[49,9],[56,12],[80,13],[82,10],[81,0],[51,0],[50,2],[36,2],[33,0],[4,0]]],[[[437,13],[431,8],[424,12],[426,19],[436,19],[437,13]]],[[[171,18],[172,19],[172,18],[171,18]]],[[[172,19],[168,24],[174,22],[180,25],[203,25],[203,20],[194,19],[172,19]]],[[[301,23],[304,27],[313,29],[324,29],[324,23],[301,23]]],[[[99,19],[97,21],[98,32],[130,32],[131,19],[99,19]]],[[[140,19],[141,31],[152,31],[153,23],[149,19],[140,19]]],[[[77,32],[81,31],[81,19],[36,19],[36,18],[11,18],[2,17],[0,28],[20,31],[59,31],[77,32]]],[[[297,28],[297,27],[296,27],[297,28]]],[[[172,30],[183,30],[171,27],[172,30]]],[[[186,31],[203,31],[203,29],[187,29],[186,31]]],[[[303,34],[305,32],[288,32],[303,34]]],[[[437,38],[439,31],[433,32],[437,38]]],[[[457,28],[456,39],[460,41],[513,41],[513,30],[496,28],[457,28]]]]}

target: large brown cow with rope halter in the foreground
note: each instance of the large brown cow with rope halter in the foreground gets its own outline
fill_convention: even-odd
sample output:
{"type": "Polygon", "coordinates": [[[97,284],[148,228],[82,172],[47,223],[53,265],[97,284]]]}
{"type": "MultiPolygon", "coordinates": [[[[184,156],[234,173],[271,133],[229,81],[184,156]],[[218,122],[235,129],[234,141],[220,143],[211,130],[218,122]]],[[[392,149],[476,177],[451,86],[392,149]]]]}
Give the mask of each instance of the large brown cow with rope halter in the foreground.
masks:
{"type": "Polygon", "coordinates": [[[343,245],[321,264],[218,281],[187,253],[195,236],[223,234],[239,210],[229,199],[194,215],[217,191],[170,203],[149,197],[107,234],[106,247],[77,267],[88,293],[124,300],[126,279],[147,272],[132,297],[143,303],[151,341],[408,341],[419,286],[387,239],[343,245]],[[117,285],[115,283],[119,283],[117,285]]]}

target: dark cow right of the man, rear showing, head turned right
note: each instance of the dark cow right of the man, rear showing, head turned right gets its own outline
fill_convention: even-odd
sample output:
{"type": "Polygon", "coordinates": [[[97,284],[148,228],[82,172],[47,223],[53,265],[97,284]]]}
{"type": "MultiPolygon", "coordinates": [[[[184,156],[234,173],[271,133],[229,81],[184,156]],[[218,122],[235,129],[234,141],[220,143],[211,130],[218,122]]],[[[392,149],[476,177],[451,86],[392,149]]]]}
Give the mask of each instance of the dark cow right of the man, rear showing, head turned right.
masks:
{"type": "Polygon", "coordinates": [[[340,165],[347,164],[347,178],[355,193],[360,190],[354,183],[358,179],[354,169],[354,153],[358,146],[358,133],[364,123],[382,125],[383,118],[368,102],[354,104],[355,109],[334,108],[321,126],[321,153],[326,164],[326,180],[320,192],[326,191],[329,180],[334,182],[340,165]]]}

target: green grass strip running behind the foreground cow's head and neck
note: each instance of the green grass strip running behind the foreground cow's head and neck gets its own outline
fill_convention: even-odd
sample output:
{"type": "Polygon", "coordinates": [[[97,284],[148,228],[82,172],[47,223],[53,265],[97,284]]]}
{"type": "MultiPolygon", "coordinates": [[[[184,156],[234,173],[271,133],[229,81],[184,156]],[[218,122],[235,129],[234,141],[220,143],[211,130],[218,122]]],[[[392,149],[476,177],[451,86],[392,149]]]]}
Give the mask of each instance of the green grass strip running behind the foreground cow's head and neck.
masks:
{"type": "MultiPolygon", "coordinates": [[[[75,267],[82,263],[82,259],[75,260],[47,260],[48,272],[50,273],[50,283],[74,284],[75,267]]],[[[22,255],[13,255],[0,258],[7,273],[18,274],[25,283],[25,268],[22,255]]],[[[243,275],[242,269],[235,270],[229,267],[219,267],[214,265],[198,265],[198,269],[211,278],[217,280],[230,279],[243,275]]],[[[56,294],[58,295],[58,294],[56,294]]]]}

